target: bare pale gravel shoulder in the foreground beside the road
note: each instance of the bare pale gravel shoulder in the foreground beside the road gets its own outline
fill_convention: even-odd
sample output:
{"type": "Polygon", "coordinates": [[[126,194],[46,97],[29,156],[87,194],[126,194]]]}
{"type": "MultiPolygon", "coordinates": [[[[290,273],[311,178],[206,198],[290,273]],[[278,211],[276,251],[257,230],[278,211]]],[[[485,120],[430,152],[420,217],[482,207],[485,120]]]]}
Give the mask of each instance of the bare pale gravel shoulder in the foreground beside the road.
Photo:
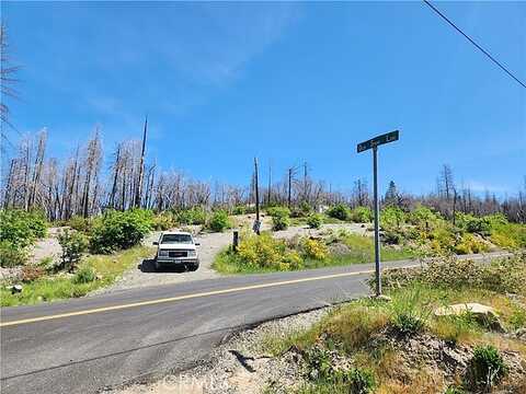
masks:
{"type": "Polygon", "coordinates": [[[330,308],[301,313],[236,334],[216,348],[202,366],[165,376],[155,383],[119,387],[112,394],[255,394],[271,387],[277,392],[291,389],[301,381],[299,355],[287,351],[274,358],[265,352],[266,338],[279,337],[310,327],[330,308]]]}

